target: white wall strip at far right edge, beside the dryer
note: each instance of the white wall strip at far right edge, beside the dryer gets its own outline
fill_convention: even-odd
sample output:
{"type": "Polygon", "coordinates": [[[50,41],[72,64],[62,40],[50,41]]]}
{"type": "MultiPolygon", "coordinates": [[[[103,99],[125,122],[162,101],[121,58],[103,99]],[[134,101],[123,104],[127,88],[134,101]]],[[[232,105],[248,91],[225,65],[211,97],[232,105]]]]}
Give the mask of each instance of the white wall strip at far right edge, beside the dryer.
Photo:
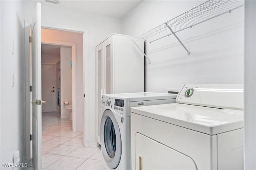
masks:
{"type": "Polygon", "coordinates": [[[245,1],[244,170],[256,169],[256,1],[245,1]]]}

